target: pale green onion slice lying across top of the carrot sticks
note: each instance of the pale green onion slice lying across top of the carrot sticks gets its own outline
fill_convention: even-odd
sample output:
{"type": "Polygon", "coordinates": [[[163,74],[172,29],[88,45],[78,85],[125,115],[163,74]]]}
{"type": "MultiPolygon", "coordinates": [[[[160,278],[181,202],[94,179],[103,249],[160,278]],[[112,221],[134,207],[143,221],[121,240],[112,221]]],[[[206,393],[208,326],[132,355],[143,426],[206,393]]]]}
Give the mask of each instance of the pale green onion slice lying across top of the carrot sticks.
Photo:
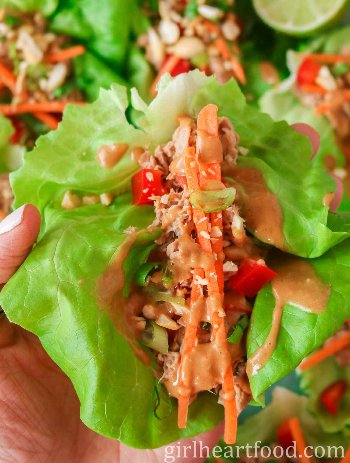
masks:
{"type": "Polygon", "coordinates": [[[225,188],[219,191],[197,190],[190,195],[190,203],[203,212],[217,212],[230,206],[236,196],[236,188],[225,188]]]}

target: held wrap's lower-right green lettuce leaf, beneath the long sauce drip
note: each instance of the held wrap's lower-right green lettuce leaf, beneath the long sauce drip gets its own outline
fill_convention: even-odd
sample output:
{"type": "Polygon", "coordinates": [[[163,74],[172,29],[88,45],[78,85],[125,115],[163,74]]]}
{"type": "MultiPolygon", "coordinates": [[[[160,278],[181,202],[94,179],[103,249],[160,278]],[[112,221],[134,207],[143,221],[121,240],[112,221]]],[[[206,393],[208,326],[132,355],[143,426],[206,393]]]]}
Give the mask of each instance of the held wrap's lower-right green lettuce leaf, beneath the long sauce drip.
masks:
{"type": "MultiPolygon", "coordinates": [[[[336,215],[336,214],[334,214],[336,215]]],[[[348,214],[345,214],[345,216],[348,214]]],[[[338,222],[338,223],[337,223],[338,222]]],[[[332,225],[339,225],[333,219],[332,225]]],[[[313,350],[325,342],[350,317],[350,240],[338,244],[323,256],[310,259],[325,284],[331,285],[327,310],[308,313],[285,304],[272,357],[258,373],[250,378],[253,397],[293,371],[313,350]]],[[[247,337],[248,357],[262,345],[271,328],[275,297],[268,283],[256,297],[247,337]]]]}

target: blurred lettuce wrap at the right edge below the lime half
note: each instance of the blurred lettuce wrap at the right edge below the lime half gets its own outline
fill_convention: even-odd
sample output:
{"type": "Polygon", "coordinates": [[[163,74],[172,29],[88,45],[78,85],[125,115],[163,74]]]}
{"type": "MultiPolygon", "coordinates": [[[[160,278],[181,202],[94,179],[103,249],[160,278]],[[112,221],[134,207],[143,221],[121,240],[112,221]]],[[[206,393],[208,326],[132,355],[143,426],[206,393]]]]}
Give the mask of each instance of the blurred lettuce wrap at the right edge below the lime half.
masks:
{"type": "Polygon", "coordinates": [[[290,76],[276,88],[266,92],[259,101],[261,110],[268,113],[274,120],[284,119],[289,124],[304,122],[319,132],[320,148],[314,162],[323,165],[328,171],[333,171],[335,175],[344,180],[345,194],[339,209],[344,211],[350,210],[346,170],[350,122],[349,116],[343,113],[341,108],[340,96],[341,92],[348,88],[346,76],[349,67],[345,63],[341,64],[341,57],[333,64],[328,62],[327,58],[322,63],[322,56],[348,55],[349,36],[350,28],[345,26],[300,47],[300,53],[289,50],[287,64],[290,76]],[[308,55],[319,56],[319,62],[313,62],[316,66],[314,71],[311,71],[312,62],[308,59],[308,55]],[[321,74],[312,77],[312,72],[321,74]],[[336,102],[337,94],[338,99],[340,98],[339,103],[336,102]],[[322,109],[322,103],[327,99],[334,106],[331,106],[328,111],[326,107],[322,109]]]}

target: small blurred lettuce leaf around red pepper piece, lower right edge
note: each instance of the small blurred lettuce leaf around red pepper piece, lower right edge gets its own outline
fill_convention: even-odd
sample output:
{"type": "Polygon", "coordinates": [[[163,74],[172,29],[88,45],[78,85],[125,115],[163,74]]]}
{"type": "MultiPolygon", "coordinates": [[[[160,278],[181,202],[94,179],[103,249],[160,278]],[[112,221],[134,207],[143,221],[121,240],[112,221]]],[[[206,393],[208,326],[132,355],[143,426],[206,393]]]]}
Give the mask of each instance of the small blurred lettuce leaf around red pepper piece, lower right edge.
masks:
{"type": "Polygon", "coordinates": [[[329,413],[320,401],[320,395],[332,383],[345,380],[350,384],[350,367],[339,366],[334,356],[300,372],[300,388],[309,394],[308,409],[325,432],[344,431],[350,428],[350,389],[347,388],[336,415],[329,413]]]}

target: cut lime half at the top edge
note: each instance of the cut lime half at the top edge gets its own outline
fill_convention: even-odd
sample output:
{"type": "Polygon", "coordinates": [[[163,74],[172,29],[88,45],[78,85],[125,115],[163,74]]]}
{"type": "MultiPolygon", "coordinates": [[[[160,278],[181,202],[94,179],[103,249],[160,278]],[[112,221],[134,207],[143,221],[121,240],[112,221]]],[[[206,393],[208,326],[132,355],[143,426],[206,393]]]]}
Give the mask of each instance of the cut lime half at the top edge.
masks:
{"type": "Polygon", "coordinates": [[[349,0],[253,0],[256,13],[270,27],[290,35],[311,35],[346,13],[349,0]]]}

